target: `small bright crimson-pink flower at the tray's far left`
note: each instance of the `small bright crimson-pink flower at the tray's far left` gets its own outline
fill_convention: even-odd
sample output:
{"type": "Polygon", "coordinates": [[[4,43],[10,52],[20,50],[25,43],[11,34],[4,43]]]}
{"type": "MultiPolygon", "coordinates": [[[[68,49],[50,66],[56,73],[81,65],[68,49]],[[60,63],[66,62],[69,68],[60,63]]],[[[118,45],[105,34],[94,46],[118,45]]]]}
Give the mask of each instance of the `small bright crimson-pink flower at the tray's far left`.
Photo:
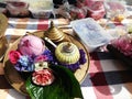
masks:
{"type": "Polygon", "coordinates": [[[20,58],[21,54],[18,51],[11,51],[9,53],[9,59],[12,64],[16,64],[18,59],[20,58]]]}

